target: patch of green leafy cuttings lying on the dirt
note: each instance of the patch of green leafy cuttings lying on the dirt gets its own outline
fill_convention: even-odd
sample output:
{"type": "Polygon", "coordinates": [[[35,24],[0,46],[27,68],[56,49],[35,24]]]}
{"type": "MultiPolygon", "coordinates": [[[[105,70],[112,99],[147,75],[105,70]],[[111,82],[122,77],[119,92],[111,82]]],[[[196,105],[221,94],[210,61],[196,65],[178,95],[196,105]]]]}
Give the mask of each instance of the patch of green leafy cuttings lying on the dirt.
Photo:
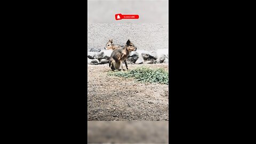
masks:
{"type": "Polygon", "coordinates": [[[169,73],[163,68],[139,67],[128,71],[109,71],[108,75],[125,78],[134,77],[136,81],[142,83],[169,84],[169,73]]]}

